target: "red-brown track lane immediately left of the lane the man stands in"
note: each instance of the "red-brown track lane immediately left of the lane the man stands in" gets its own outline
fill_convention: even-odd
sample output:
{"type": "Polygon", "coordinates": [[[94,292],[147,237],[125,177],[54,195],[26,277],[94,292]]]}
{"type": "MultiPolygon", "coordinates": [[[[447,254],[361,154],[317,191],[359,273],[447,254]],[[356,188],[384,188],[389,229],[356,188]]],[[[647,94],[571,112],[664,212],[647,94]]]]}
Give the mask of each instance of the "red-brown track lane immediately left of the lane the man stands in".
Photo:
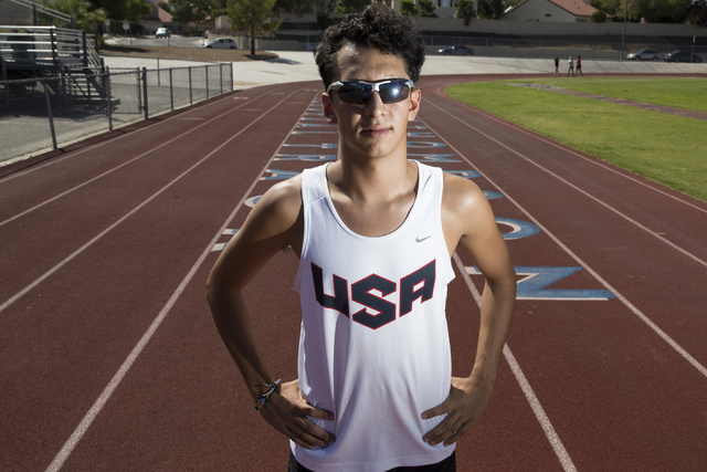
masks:
{"type": "MultiPolygon", "coordinates": [[[[287,96],[276,98],[284,102],[287,96]]],[[[278,117],[282,107],[275,107],[277,113],[273,115],[271,112],[267,122],[261,119],[252,124],[260,124],[262,129],[267,129],[268,126],[282,129],[278,117]]],[[[262,116],[267,116],[267,109],[263,112],[262,116]]],[[[285,132],[282,129],[278,133],[285,132]]],[[[3,417],[9,418],[3,423],[17,431],[12,440],[13,447],[20,445],[20,450],[24,450],[44,441],[54,443],[62,436],[64,439],[68,437],[71,431],[64,434],[60,431],[65,431],[67,427],[74,428],[78,422],[68,418],[88,408],[75,406],[94,401],[99,392],[95,392],[95,388],[105,386],[105,376],[110,378],[115,373],[115,363],[119,365],[123,361],[131,345],[149,325],[144,314],[159,311],[157,305],[160,301],[165,303],[173,286],[178,285],[176,277],[188,270],[188,266],[181,270],[179,268],[197,259],[198,255],[189,254],[194,251],[194,241],[203,240],[204,235],[200,231],[193,232],[193,229],[213,224],[204,208],[213,204],[214,199],[231,195],[225,185],[220,186],[214,193],[217,189],[204,178],[226,179],[229,175],[223,172],[230,169],[232,183],[244,187],[241,179],[249,177],[244,170],[252,156],[243,156],[242,150],[252,138],[243,138],[242,130],[236,132],[231,137],[231,143],[224,143],[228,146],[221,145],[221,150],[209,153],[202,158],[201,166],[196,164],[199,171],[187,170],[183,175],[186,178],[169,183],[169,192],[162,191],[154,195],[152,201],[144,201],[135,209],[138,211],[114,227],[114,231],[106,238],[95,241],[92,247],[67,261],[55,276],[48,277],[35,291],[30,292],[27,300],[31,301],[31,313],[27,312],[24,304],[15,304],[2,314],[1,377],[13,378],[12,385],[3,389],[7,398],[12,399],[10,403],[13,406],[13,411],[3,412],[3,417]],[[241,139],[236,138],[239,135],[241,139]],[[239,153],[242,157],[233,159],[239,153]],[[110,254],[112,263],[101,262],[105,260],[105,254],[110,254]],[[56,296],[41,297],[48,293],[56,296]],[[96,317],[96,313],[101,316],[96,317]],[[31,336],[23,335],[25,331],[31,336]],[[119,336],[116,337],[115,333],[119,333],[119,336]],[[102,355],[87,357],[87,353],[102,355]],[[17,358],[25,360],[18,365],[12,361],[17,358]],[[44,382],[41,388],[28,390],[38,370],[42,371],[44,382]],[[89,378],[85,378],[83,373],[89,373],[89,378]],[[84,389],[72,394],[74,385],[82,385],[84,389]],[[38,424],[27,418],[34,417],[39,420],[42,410],[65,413],[46,413],[45,416],[52,417],[52,423],[44,424],[48,428],[38,433],[38,424]]],[[[274,150],[272,144],[261,144],[261,148],[268,146],[267,156],[274,150]]],[[[258,151],[257,146],[251,148],[253,153],[258,151]]],[[[151,174],[156,172],[152,170],[151,174]]],[[[256,174],[251,175],[250,178],[255,176],[256,174]]],[[[76,204],[81,207],[81,202],[76,204]]],[[[203,248],[205,244],[207,241],[202,241],[199,247],[203,248]]],[[[49,448],[53,451],[45,450],[44,453],[53,457],[60,448],[61,443],[55,444],[55,448],[49,448]]],[[[8,445],[7,450],[14,449],[8,445]]],[[[45,458],[40,453],[34,455],[33,460],[40,464],[45,461],[45,465],[51,460],[51,457],[45,458]]]]}

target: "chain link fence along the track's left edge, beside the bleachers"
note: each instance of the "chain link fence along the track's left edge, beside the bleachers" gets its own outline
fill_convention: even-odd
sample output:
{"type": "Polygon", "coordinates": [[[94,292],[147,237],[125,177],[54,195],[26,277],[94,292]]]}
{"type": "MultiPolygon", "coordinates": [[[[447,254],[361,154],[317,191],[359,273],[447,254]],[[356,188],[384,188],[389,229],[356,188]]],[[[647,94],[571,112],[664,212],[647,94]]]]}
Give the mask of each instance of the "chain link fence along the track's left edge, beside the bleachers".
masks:
{"type": "Polygon", "coordinates": [[[0,81],[0,165],[232,91],[230,63],[0,81]]]}

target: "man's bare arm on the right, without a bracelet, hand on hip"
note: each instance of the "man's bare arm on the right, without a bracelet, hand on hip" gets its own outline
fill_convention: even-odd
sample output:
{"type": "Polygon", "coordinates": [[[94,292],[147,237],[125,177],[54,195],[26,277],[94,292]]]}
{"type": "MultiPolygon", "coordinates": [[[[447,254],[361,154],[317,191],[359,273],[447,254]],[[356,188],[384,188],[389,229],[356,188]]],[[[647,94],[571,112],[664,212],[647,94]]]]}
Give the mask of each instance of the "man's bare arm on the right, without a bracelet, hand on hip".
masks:
{"type": "Polygon", "coordinates": [[[447,415],[423,438],[433,445],[456,442],[486,409],[516,300],[515,270],[483,192],[473,182],[453,176],[445,176],[444,192],[443,227],[450,253],[458,242],[474,259],[486,282],[472,374],[467,378],[452,378],[447,399],[422,413],[423,418],[447,415]]]}

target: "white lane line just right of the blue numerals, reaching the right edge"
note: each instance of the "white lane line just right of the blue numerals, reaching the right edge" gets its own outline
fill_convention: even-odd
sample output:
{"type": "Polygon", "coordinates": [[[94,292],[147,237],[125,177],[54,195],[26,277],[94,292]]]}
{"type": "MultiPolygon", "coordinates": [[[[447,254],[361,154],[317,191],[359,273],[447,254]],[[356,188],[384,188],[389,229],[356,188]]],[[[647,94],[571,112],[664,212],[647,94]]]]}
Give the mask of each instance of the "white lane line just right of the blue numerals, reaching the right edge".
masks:
{"type": "MultiPolygon", "coordinates": [[[[453,116],[453,115],[450,115],[450,116],[453,116]]],[[[462,123],[464,123],[464,122],[462,122],[462,123]]],[[[428,125],[428,127],[430,127],[430,129],[432,129],[432,127],[430,125],[428,125]]],[[[484,135],[484,134],[482,133],[482,135],[484,135]]],[[[667,333],[665,333],[663,329],[661,329],[643,312],[641,312],[631,302],[629,302],[629,300],[625,296],[623,296],[616,289],[614,289],[601,275],[599,275],[599,273],[597,273],[597,271],[594,271],[592,268],[590,268],[589,264],[587,264],[582,259],[579,258],[579,255],[577,255],[574,252],[572,252],[572,250],[570,250],[567,245],[564,245],[560,241],[560,239],[558,237],[556,237],[552,232],[550,232],[550,230],[548,230],[545,225],[542,225],[542,223],[540,223],[540,221],[538,221],[535,217],[532,217],[530,214],[530,212],[528,210],[526,210],[524,207],[521,207],[520,203],[518,203],[513,197],[510,197],[510,195],[506,190],[502,189],[500,186],[498,186],[496,182],[494,182],[492,179],[489,179],[488,176],[486,176],[478,167],[473,165],[472,161],[466,156],[464,156],[462,153],[460,153],[458,149],[456,149],[451,143],[449,143],[446,139],[444,139],[439,133],[437,133],[437,136],[440,136],[440,139],[442,139],[444,143],[446,143],[450,146],[451,149],[453,149],[462,159],[464,159],[469,166],[472,166],[483,178],[485,178],[490,185],[496,187],[496,189],[498,189],[498,191],[500,191],[504,195],[505,198],[507,198],[513,204],[515,204],[526,217],[528,217],[538,228],[540,228],[540,230],[544,233],[546,233],[552,241],[555,241],[555,243],[557,245],[559,245],[564,252],[567,252],[572,259],[574,259],[582,268],[584,268],[584,270],[587,270],[594,279],[597,279],[597,281],[599,283],[601,283],[606,290],[609,290],[611,293],[613,293],[614,296],[616,296],[616,298],[620,300],[621,303],[623,303],[631,311],[631,313],[636,315],[655,334],[657,334],[673,349],[675,349],[685,360],[687,360],[693,367],[695,367],[701,375],[707,377],[707,368],[705,366],[703,366],[695,357],[693,357],[687,350],[685,350],[685,348],[683,348],[677,342],[675,342],[675,339],[673,339],[671,336],[668,336],[667,333]]],[[[486,135],[484,135],[484,136],[486,136],[486,135]]],[[[498,141],[496,141],[495,139],[493,139],[490,137],[489,137],[489,139],[494,140],[495,143],[498,143],[498,141]]]]}

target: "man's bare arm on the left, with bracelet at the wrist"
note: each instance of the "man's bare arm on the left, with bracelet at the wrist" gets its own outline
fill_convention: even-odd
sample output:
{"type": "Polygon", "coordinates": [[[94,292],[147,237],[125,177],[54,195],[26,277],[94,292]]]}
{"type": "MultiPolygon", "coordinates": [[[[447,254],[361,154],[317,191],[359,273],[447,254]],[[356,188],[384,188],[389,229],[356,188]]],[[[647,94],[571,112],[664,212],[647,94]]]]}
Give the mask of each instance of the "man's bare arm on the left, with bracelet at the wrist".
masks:
{"type": "MultiPolygon", "coordinates": [[[[255,343],[241,292],[286,244],[299,254],[303,228],[299,189],[300,180],[295,178],[263,196],[217,261],[207,284],[213,321],[254,400],[265,394],[263,386],[274,378],[255,343]]],[[[271,426],[304,448],[326,447],[334,440],[307,419],[307,416],[330,419],[331,413],[308,406],[299,395],[297,380],[283,384],[260,412],[271,426]]]]}

